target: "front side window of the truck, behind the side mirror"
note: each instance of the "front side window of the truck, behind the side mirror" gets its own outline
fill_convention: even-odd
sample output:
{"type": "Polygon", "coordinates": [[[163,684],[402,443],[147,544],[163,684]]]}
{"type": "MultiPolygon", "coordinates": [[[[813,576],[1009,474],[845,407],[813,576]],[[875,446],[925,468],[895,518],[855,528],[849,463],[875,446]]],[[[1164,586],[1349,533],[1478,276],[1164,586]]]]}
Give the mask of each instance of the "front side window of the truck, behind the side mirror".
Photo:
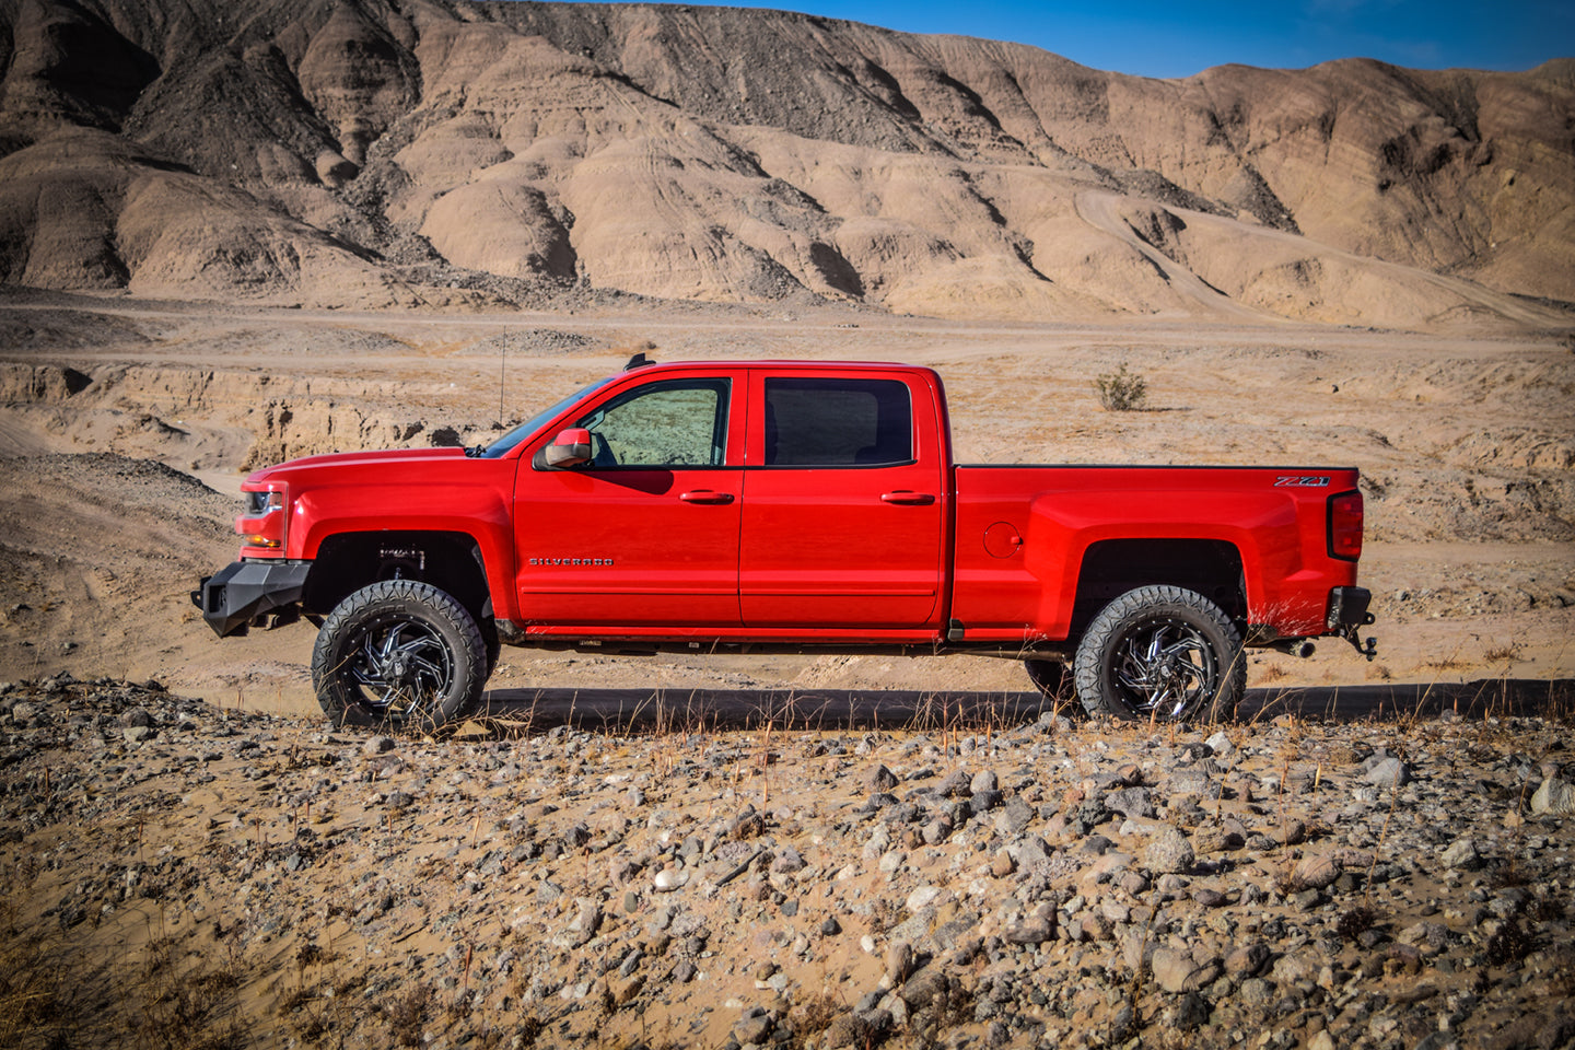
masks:
{"type": "Polygon", "coordinates": [[[591,431],[592,468],[721,466],[728,381],[650,383],[619,394],[575,425],[591,431]]]}

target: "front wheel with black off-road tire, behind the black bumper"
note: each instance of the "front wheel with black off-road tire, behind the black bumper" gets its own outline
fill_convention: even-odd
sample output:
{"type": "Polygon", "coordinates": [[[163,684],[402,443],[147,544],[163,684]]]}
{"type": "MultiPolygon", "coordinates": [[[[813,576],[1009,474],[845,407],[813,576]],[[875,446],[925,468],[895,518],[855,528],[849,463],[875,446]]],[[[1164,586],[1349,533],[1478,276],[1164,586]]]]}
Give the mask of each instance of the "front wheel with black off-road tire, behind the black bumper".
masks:
{"type": "Polygon", "coordinates": [[[441,726],[476,707],[490,671],[476,619],[413,579],[351,593],[312,647],[317,701],[335,726],[441,726]]]}

